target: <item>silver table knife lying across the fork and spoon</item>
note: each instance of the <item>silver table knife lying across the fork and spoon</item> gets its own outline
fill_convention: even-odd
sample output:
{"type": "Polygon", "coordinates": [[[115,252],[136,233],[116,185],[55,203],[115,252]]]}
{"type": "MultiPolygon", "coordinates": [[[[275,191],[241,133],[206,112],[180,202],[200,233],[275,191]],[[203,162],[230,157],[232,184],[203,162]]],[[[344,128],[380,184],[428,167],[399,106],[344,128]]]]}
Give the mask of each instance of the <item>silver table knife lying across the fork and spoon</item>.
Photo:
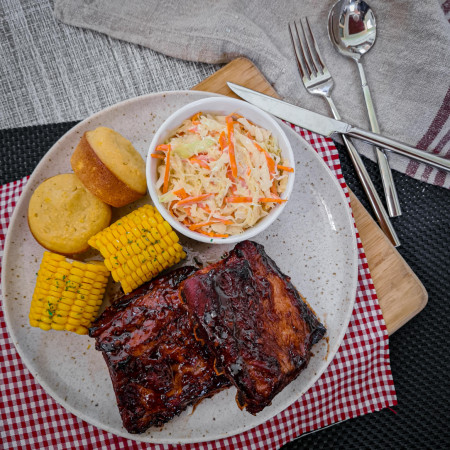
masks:
{"type": "Polygon", "coordinates": [[[360,139],[362,141],[379,145],[380,147],[391,150],[399,155],[406,156],[425,164],[429,164],[430,166],[438,169],[450,172],[450,160],[448,159],[424,152],[423,150],[419,150],[394,139],[381,136],[380,134],[372,133],[353,125],[349,125],[348,123],[340,120],[335,120],[330,117],[323,116],[322,114],[308,111],[307,109],[300,108],[299,106],[269,97],[268,95],[253,91],[252,89],[239,86],[238,84],[230,82],[227,84],[235,94],[239,95],[239,97],[243,98],[252,105],[258,106],[264,111],[267,111],[280,119],[287,120],[288,122],[302,128],[306,128],[314,133],[328,137],[334,133],[345,134],[355,139],[360,139]]]}

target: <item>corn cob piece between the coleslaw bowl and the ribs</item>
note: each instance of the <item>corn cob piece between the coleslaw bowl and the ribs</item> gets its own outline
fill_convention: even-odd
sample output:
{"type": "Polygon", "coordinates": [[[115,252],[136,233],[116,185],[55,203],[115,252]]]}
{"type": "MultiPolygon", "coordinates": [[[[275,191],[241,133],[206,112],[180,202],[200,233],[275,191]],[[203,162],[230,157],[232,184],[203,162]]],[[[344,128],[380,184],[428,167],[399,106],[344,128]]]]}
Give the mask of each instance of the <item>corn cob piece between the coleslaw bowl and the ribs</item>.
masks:
{"type": "Polygon", "coordinates": [[[125,294],[186,257],[178,236],[151,205],[122,217],[89,239],[125,294]]]}

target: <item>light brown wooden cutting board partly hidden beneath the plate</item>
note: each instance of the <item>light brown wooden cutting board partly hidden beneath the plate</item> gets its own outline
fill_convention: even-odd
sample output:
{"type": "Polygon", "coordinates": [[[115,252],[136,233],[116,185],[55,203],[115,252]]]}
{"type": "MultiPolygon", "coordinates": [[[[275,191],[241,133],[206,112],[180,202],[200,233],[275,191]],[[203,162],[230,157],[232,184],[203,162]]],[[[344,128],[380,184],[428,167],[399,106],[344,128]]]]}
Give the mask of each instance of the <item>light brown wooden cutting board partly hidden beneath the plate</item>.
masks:
{"type": "MultiPolygon", "coordinates": [[[[227,81],[278,97],[262,73],[246,58],[235,59],[193,89],[238,98],[226,85],[227,81]]],[[[352,192],[350,200],[384,320],[392,334],[425,307],[428,294],[352,192]]]]}

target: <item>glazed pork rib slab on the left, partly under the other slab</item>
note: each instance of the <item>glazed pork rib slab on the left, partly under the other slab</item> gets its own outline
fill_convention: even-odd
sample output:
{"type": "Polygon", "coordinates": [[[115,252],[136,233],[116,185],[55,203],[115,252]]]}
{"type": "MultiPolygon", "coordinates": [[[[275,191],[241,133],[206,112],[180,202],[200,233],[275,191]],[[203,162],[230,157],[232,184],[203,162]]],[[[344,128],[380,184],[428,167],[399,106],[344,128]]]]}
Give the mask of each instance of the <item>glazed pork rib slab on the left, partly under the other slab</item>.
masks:
{"type": "Polygon", "coordinates": [[[178,295],[195,272],[183,267],[123,296],[89,334],[103,352],[124,427],[142,433],[230,385],[216,375],[214,357],[194,337],[178,295]]]}

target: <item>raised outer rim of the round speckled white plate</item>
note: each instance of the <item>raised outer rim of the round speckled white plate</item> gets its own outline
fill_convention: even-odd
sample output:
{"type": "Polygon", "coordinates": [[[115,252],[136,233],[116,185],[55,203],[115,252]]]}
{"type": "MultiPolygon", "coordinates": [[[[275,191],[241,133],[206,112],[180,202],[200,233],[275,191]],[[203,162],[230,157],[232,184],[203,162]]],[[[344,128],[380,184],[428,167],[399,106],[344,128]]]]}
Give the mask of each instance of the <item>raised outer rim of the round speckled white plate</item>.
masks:
{"type": "MultiPolygon", "coordinates": [[[[204,95],[204,96],[208,96],[208,97],[212,97],[212,96],[219,96],[219,97],[227,97],[221,94],[216,94],[216,93],[212,93],[212,92],[208,92],[208,91],[192,91],[192,90],[179,90],[179,91],[161,91],[161,92],[154,92],[154,93],[149,93],[149,94],[144,94],[144,95],[140,95],[137,97],[132,97],[126,100],[123,100],[121,102],[115,103],[113,105],[110,105],[92,115],[90,115],[89,117],[81,120],[78,124],[76,124],[74,127],[72,127],[70,130],[68,130],[66,133],[64,133],[64,135],[62,135],[49,149],[48,151],[45,153],[45,155],[42,157],[41,161],[38,163],[38,165],[35,167],[35,169],[33,170],[32,174],[30,175],[30,178],[27,181],[27,184],[24,188],[24,190],[22,191],[19,201],[17,202],[15,208],[14,208],[14,212],[13,215],[11,216],[11,220],[10,223],[8,225],[8,230],[7,230],[7,234],[5,236],[5,243],[4,243],[4,251],[3,251],[3,258],[2,258],[2,272],[3,274],[6,273],[5,267],[6,267],[6,263],[8,261],[8,255],[9,255],[9,247],[12,245],[11,244],[11,240],[12,240],[12,235],[13,232],[11,231],[14,227],[12,226],[16,221],[19,220],[19,210],[22,208],[22,203],[25,201],[25,195],[23,195],[26,192],[26,189],[28,186],[31,186],[35,180],[35,178],[38,177],[38,172],[40,172],[41,166],[44,166],[47,162],[47,155],[53,151],[53,149],[59,145],[59,142],[63,139],[66,138],[67,135],[72,134],[74,132],[77,131],[78,128],[83,127],[84,125],[86,125],[89,121],[95,120],[97,116],[99,115],[103,115],[108,113],[109,111],[113,111],[117,108],[121,108],[129,103],[133,103],[136,101],[142,101],[145,100],[147,98],[154,98],[154,97],[165,97],[168,95],[186,95],[189,96],[191,94],[199,94],[199,95],[204,95]]],[[[193,100],[194,101],[194,100],[193,100]]],[[[347,311],[347,315],[345,316],[345,320],[343,320],[343,325],[342,329],[338,335],[338,338],[336,339],[336,344],[335,344],[335,348],[333,349],[333,351],[331,351],[329,353],[329,355],[331,355],[331,358],[329,359],[328,364],[324,365],[322,370],[319,370],[314,377],[312,377],[310,379],[310,381],[305,385],[305,387],[302,390],[302,393],[296,397],[288,406],[285,406],[279,410],[276,410],[274,412],[274,414],[269,417],[266,418],[265,420],[263,420],[262,422],[259,422],[255,425],[251,425],[251,426],[247,426],[247,427],[243,427],[237,430],[233,430],[230,432],[226,432],[223,435],[220,436],[215,436],[215,437],[200,437],[200,438],[184,438],[184,439],[174,439],[174,438],[149,438],[148,436],[143,436],[143,435],[134,435],[134,434],[130,434],[130,433],[123,433],[121,432],[121,430],[117,430],[115,428],[112,428],[108,425],[104,425],[101,424],[99,425],[98,423],[93,423],[92,419],[90,417],[87,417],[83,411],[80,411],[78,409],[75,409],[74,407],[72,407],[68,402],[66,402],[63,398],[61,398],[56,392],[54,392],[53,388],[51,386],[49,386],[46,382],[41,380],[41,377],[39,376],[39,373],[37,371],[32,370],[30,367],[33,367],[33,365],[31,364],[31,361],[29,360],[29,358],[25,355],[25,353],[22,351],[22,348],[19,344],[19,342],[17,342],[17,336],[15,335],[15,333],[13,332],[13,327],[12,327],[12,323],[11,323],[11,318],[9,316],[9,308],[8,305],[5,302],[5,293],[7,292],[6,289],[6,277],[2,277],[1,280],[1,287],[2,287],[2,292],[3,292],[3,301],[2,301],[2,309],[3,309],[3,314],[4,314],[4,318],[5,318],[5,323],[6,323],[6,328],[9,334],[9,337],[11,339],[11,341],[14,344],[14,347],[16,348],[16,351],[19,353],[19,356],[22,359],[22,362],[24,363],[26,369],[30,372],[30,374],[33,376],[33,378],[35,378],[35,381],[39,384],[39,386],[45,391],[45,393],[47,395],[49,395],[54,401],[56,401],[60,406],[62,406],[63,408],[65,408],[67,411],[69,411],[70,413],[72,413],[73,415],[75,415],[76,417],[78,417],[79,419],[85,421],[86,423],[90,424],[91,426],[95,426],[103,431],[112,433],[116,436],[120,436],[123,437],[125,439],[131,439],[131,440],[135,440],[138,442],[146,442],[146,443],[154,443],[154,444],[192,444],[192,443],[200,443],[200,442],[209,442],[209,441],[214,441],[214,440],[220,440],[220,439],[226,439],[232,436],[236,436],[238,434],[247,432],[249,430],[254,429],[257,426],[260,426],[262,424],[264,424],[265,422],[271,420],[273,417],[275,417],[277,414],[279,414],[280,412],[284,411],[286,408],[289,408],[295,401],[297,401],[298,399],[300,399],[310,388],[311,386],[317,382],[317,380],[322,376],[322,374],[327,370],[327,368],[329,367],[329,365],[331,364],[331,362],[334,360],[334,357],[336,356],[337,351],[339,350],[343,338],[345,336],[345,333],[347,332],[348,329],[348,323],[350,322],[351,316],[353,314],[353,309],[354,309],[354,304],[356,301],[356,290],[357,290],[357,286],[358,286],[358,248],[357,248],[357,240],[356,240],[356,225],[354,222],[354,218],[351,212],[351,209],[349,208],[349,200],[345,195],[345,192],[343,191],[338,179],[336,178],[336,176],[333,174],[333,172],[331,171],[331,169],[327,166],[327,164],[325,163],[325,161],[320,157],[320,155],[314,150],[314,148],[312,147],[311,144],[309,144],[302,136],[300,136],[298,133],[296,133],[291,127],[289,127],[288,125],[286,125],[283,121],[275,118],[279,124],[281,124],[281,127],[283,129],[283,131],[285,131],[288,136],[289,134],[293,134],[295,135],[296,138],[299,138],[301,141],[303,141],[303,143],[309,148],[310,151],[313,152],[313,154],[315,155],[315,158],[318,160],[319,164],[325,169],[325,171],[327,172],[327,174],[329,175],[329,178],[332,180],[332,183],[334,183],[335,187],[337,188],[337,191],[339,192],[339,196],[341,197],[342,201],[343,201],[343,206],[345,208],[346,211],[346,219],[349,222],[350,225],[350,233],[351,233],[351,242],[352,242],[352,264],[353,264],[353,283],[349,289],[349,292],[352,292],[353,294],[351,295],[351,298],[349,299],[349,302],[351,304],[351,307],[349,305],[348,307],[348,311],[347,311]]],[[[295,151],[294,151],[295,153],[295,151]]],[[[31,189],[31,187],[29,188],[31,189]]],[[[8,302],[9,303],[9,302],[8,302]]]]}

